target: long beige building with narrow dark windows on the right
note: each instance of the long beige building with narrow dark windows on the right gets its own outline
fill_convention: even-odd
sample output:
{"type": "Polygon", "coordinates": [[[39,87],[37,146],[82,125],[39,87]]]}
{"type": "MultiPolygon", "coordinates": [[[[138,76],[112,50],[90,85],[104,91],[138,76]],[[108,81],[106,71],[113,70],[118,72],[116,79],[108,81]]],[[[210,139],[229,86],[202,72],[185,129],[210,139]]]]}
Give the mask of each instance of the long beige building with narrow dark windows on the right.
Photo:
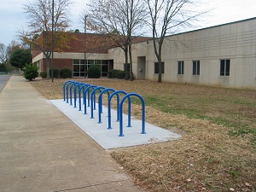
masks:
{"type": "MultiPolygon", "coordinates": [[[[113,68],[124,69],[121,49],[108,49],[113,68]]],[[[162,51],[163,82],[256,89],[256,18],[168,36],[162,51]]],[[[133,45],[136,79],[157,81],[153,41],[133,45]]]]}

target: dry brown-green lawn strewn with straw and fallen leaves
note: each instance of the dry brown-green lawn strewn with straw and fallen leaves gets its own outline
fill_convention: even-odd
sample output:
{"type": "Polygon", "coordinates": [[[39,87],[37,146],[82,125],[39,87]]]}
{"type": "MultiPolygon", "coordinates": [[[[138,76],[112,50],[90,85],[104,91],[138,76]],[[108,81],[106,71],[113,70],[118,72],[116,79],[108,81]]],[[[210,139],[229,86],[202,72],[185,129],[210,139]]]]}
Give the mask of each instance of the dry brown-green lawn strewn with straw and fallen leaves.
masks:
{"type": "MultiPolygon", "coordinates": [[[[256,90],[119,79],[73,80],[137,92],[146,102],[148,123],[183,136],[111,151],[141,188],[256,191],[256,90]]],[[[60,99],[65,81],[43,79],[31,84],[46,98],[60,99]]],[[[132,102],[139,103],[136,99],[132,102]]],[[[132,105],[132,115],[139,118],[137,105],[132,105]]]]}

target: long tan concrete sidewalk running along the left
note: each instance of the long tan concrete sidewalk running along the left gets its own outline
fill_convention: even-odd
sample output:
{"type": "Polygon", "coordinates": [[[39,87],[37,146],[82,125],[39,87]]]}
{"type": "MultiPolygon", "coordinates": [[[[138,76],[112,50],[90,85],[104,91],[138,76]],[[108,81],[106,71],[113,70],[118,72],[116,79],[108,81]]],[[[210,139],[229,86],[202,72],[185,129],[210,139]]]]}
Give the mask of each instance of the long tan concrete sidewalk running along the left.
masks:
{"type": "Polygon", "coordinates": [[[143,191],[21,76],[0,94],[0,191],[143,191]]]}

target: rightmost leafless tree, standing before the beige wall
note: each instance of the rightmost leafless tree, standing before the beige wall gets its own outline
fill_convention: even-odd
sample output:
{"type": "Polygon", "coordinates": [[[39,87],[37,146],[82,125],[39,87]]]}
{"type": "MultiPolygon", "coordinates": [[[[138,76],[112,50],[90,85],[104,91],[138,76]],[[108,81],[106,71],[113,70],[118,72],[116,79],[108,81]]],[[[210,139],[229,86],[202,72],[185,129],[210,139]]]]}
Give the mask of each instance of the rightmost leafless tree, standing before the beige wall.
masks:
{"type": "Polygon", "coordinates": [[[205,12],[196,12],[191,9],[193,0],[144,0],[148,4],[150,15],[149,26],[152,29],[154,54],[158,60],[159,77],[162,82],[162,46],[166,34],[175,33],[178,27],[190,25],[205,12]]]}

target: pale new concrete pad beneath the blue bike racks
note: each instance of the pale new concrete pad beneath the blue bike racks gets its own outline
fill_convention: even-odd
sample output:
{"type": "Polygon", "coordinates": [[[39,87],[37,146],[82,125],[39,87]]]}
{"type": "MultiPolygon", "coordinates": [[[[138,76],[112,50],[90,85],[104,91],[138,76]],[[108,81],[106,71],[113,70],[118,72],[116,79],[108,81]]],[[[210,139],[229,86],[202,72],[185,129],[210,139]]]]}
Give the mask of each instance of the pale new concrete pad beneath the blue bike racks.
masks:
{"type": "MultiPolygon", "coordinates": [[[[50,100],[62,113],[79,126],[86,134],[96,141],[102,148],[123,148],[148,143],[166,142],[177,139],[180,136],[172,131],[167,131],[155,125],[146,123],[146,134],[142,132],[142,120],[131,118],[131,127],[127,127],[128,115],[124,114],[124,137],[119,137],[119,122],[116,122],[117,112],[111,110],[112,128],[108,130],[108,108],[102,108],[102,123],[98,123],[98,111],[94,110],[94,119],[91,119],[90,107],[87,107],[87,114],[79,111],[79,108],[73,108],[69,103],[63,100],[50,100]]],[[[83,106],[84,108],[84,106],[83,106]]],[[[97,104],[96,104],[96,108],[97,104]]],[[[146,117],[147,118],[147,117],[146,117]]]]}

